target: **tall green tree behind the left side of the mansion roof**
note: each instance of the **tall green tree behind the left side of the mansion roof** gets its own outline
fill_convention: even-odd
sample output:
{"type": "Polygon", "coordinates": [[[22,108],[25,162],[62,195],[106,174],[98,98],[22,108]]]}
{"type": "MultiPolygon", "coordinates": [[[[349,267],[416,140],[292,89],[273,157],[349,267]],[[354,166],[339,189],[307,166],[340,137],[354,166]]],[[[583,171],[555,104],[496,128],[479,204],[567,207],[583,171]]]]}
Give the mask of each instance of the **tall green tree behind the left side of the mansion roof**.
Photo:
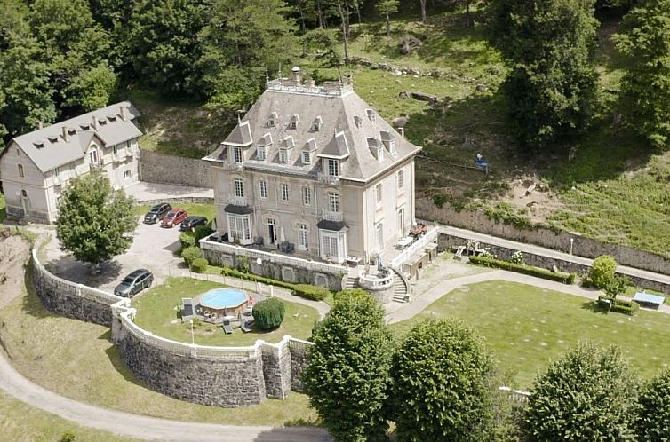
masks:
{"type": "Polygon", "coordinates": [[[296,27],[283,0],[219,0],[199,38],[202,88],[210,102],[249,105],[259,95],[266,69],[287,66],[300,51],[296,27]]]}

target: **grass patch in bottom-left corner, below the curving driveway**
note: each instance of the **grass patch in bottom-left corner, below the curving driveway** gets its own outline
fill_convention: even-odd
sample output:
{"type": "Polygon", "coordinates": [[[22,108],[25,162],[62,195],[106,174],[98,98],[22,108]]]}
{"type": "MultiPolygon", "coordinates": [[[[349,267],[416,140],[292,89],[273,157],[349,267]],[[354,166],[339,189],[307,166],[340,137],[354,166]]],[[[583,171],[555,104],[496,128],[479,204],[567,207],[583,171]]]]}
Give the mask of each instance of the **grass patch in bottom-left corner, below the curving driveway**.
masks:
{"type": "Polygon", "coordinates": [[[12,441],[55,441],[67,432],[75,436],[76,442],[122,442],[140,440],[122,438],[113,433],[81,427],[55,414],[28,406],[18,399],[0,391],[0,435],[12,441]]]}

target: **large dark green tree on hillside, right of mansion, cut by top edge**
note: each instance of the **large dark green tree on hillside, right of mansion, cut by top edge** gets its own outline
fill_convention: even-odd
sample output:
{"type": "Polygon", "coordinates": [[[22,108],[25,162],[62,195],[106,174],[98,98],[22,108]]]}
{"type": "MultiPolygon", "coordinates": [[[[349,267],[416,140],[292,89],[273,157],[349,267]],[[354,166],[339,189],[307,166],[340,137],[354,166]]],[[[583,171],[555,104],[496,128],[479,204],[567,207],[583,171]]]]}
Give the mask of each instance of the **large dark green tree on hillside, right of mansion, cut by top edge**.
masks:
{"type": "Polygon", "coordinates": [[[491,0],[489,42],[510,67],[511,130],[525,149],[582,134],[597,104],[594,0],[491,0]]]}

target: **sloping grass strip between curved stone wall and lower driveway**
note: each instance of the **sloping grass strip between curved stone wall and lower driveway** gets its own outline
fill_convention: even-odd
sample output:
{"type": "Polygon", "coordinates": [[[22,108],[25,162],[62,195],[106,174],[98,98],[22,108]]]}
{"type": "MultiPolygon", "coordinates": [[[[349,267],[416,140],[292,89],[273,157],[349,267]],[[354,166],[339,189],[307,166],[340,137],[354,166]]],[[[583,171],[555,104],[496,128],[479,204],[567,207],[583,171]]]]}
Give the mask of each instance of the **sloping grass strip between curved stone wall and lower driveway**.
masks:
{"type": "Polygon", "coordinates": [[[46,312],[32,289],[0,310],[0,324],[0,340],[12,365],[31,381],[71,399],[192,422],[283,425],[316,419],[307,408],[307,396],[299,393],[285,400],[266,399],[259,406],[218,408],[151,391],[125,367],[109,328],[46,312]]]}

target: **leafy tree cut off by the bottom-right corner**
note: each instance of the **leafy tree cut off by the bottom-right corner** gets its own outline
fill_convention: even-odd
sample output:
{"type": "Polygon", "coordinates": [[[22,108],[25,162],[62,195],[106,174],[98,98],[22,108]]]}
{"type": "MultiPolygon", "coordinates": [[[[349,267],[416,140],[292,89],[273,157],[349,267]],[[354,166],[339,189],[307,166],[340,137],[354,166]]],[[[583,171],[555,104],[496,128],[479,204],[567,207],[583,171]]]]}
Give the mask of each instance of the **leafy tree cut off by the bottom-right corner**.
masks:
{"type": "Polygon", "coordinates": [[[637,440],[667,442],[670,440],[670,369],[645,383],[640,391],[635,421],[637,440]]]}

